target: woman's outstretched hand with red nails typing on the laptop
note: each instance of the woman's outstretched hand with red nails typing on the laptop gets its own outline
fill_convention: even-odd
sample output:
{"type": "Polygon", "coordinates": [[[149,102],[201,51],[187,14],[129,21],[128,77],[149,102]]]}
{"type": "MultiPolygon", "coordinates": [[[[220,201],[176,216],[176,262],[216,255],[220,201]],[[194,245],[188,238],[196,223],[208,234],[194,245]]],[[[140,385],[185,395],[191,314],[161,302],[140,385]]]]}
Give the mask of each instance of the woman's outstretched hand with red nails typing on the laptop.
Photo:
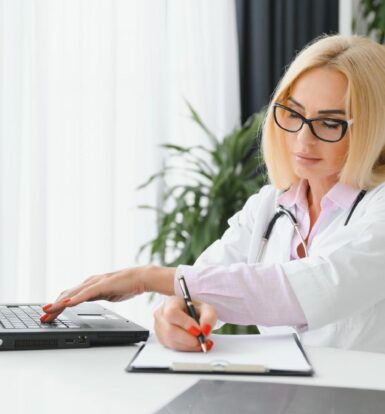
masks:
{"type": "Polygon", "coordinates": [[[118,302],[139,295],[145,291],[146,274],[154,271],[152,267],[142,266],[91,276],[80,285],[62,292],[55,302],[43,306],[46,314],[40,320],[52,322],[66,307],[82,302],[100,299],[118,302]]]}

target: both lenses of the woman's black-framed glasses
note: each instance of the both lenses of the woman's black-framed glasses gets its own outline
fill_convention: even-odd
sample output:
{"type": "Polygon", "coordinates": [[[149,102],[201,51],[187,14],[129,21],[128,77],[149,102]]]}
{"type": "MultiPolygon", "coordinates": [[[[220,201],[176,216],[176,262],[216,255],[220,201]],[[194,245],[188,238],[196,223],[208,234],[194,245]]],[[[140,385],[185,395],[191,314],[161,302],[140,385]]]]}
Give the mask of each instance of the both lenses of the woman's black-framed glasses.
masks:
{"type": "MultiPolygon", "coordinates": [[[[297,132],[301,129],[304,121],[296,112],[281,107],[274,109],[276,121],[281,128],[290,132],[297,132]]],[[[345,132],[343,123],[332,119],[319,119],[311,122],[315,134],[328,141],[338,141],[345,132]]]]}

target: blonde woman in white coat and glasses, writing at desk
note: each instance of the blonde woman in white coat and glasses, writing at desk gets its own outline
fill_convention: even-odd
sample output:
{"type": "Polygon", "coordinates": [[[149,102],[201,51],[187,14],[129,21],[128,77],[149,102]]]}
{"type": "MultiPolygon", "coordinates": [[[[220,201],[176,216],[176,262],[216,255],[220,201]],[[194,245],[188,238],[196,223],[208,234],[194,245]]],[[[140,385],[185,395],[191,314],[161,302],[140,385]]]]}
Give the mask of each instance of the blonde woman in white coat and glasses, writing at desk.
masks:
{"type": "Polygon", "coordinates": [[[46,305],[42,320],[83,301],[151,291],[170,296],[155,312],[155,332],[177,350],[199,351],[196,336],[209,336],[218,315],[262,333],[291,327],[306,345],[385,352],[384,108],[383,46],[356,36],[318,39],[290,65],[267,111],[271,185],[229,220],[223,237],[194,266],[91,277],[46,305]],[[279,204],[286,210],[277,218],[279,204]],[[180,274],[199,325],[185,311],[180,274]]]}

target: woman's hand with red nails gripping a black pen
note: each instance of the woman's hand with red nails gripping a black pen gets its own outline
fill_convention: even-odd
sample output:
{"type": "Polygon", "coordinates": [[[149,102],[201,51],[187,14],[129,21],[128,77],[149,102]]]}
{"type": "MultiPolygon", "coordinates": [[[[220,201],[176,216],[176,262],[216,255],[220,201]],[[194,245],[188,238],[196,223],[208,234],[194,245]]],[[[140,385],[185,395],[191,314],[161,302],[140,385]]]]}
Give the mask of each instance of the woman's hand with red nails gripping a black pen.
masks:
{"type": "Polygon", "coordinates": [[[217,322],[217,313],[213,306],[193,301],[199,324],[188,314],[183,298],[170,296],[155,311],[155,333],[164,346],[177,351],[200,352],[197,336],[202,333],[209,351],[214,343],[207,339],[217,322]]]}

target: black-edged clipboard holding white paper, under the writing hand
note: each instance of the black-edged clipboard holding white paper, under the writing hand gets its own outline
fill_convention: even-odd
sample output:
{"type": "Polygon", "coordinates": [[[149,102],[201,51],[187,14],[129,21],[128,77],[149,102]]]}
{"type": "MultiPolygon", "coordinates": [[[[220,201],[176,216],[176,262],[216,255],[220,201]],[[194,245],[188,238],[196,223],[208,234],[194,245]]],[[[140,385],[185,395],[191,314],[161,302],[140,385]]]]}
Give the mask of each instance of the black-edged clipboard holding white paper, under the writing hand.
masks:
{"type": "Polygon", "coordinates": [[[135,373],[312,376],[314,369],[295,333],[211,335],[207,354],[177,352],[151,336],[126,368],[135,373]]]}

